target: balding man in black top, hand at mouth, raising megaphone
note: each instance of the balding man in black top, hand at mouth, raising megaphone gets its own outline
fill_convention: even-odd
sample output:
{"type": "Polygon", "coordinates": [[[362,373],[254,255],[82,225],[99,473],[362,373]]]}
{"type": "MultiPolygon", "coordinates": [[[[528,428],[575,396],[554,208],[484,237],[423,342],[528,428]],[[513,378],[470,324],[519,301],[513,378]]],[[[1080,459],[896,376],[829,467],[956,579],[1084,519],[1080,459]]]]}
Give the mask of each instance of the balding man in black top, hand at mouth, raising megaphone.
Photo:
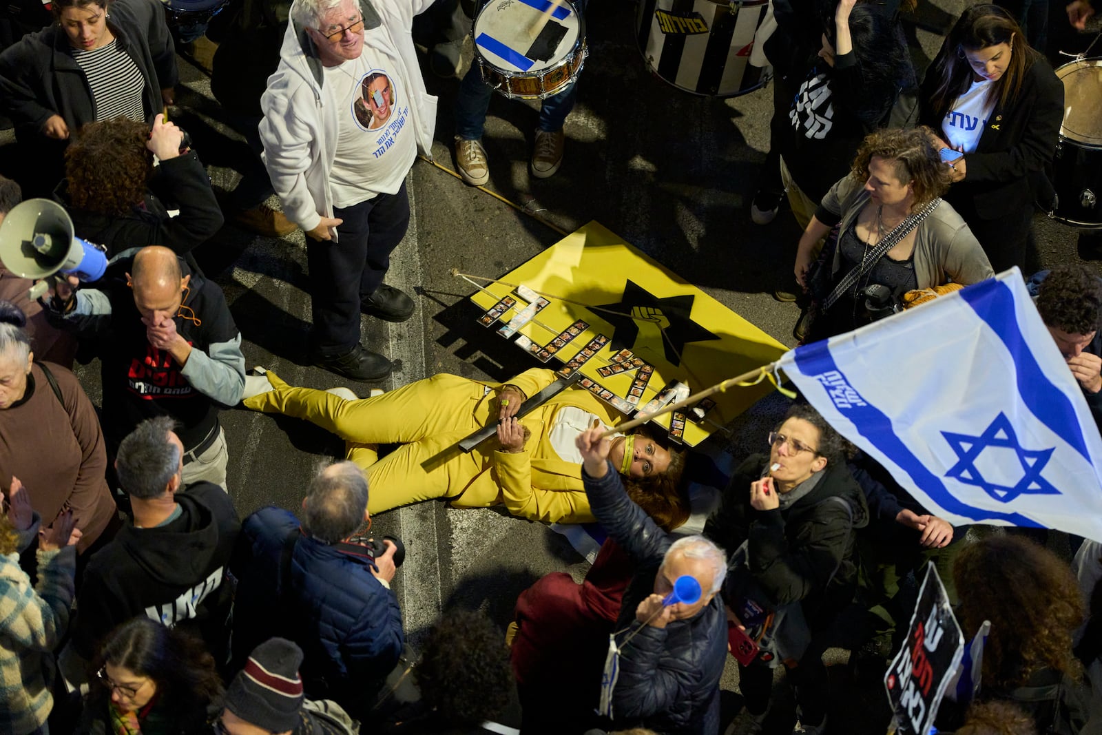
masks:
{"type": "Polygon", "coordinates": [[[108,456],[138,423],[166,415],[184,444],[183,484],[225,488],[218,411],[241,400],[245,356],[222,289],[160,246],[115,261],[96,285],[58,284],[48,305],[55,322],[97,338],[108,456]]]}

